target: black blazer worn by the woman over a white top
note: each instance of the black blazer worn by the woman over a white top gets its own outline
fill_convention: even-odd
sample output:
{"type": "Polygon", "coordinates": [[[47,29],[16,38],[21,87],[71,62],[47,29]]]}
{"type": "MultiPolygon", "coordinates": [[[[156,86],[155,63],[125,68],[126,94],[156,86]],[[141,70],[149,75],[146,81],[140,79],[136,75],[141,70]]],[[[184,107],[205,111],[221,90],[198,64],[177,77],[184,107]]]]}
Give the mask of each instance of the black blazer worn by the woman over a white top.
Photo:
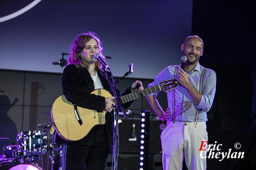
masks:
{"type": "MultiPolygon", "coordinates": [[[[106,79],[104,73],[101,70],[97,71],[102,86],[105,90],[110,92],[112,96],[114,96],[113,92],[111,91],[110,85],[108,84],[108,80],[106,79]]],[[[114,84],[116,93],[120,95],[120,91],[116,88],[116,84],[114,84]]],[[[64,68],[62,74],[62,90],[63,94],[65,95],[66,99],[77,106],[84,107],[87,109],[93,109],[97,111],[102,111],[103,107],[105,106],[105,98],[103,96],[97,96],[95,94],[90,94],[94,91],[94,83],[90,73],[86,68],[77,68],[74,64],[70,64],[64,68]]],[[[129,94],[131,93],[130,86],[126,89],[126,91],[122,94],[129,94]]],[[[121,96],[122,96],[121,95],[121,96]]],[[[133,101],[124,104],[124,108],[129,107],[133,101]]],[[[106,113],[106,133],[108,135],[108,142],[110,145],[110,150],[112,151],[113,142],[114,142],[114,116],[112,113],[106,113]]],[[[86,123],[86,122],[84,122],[86,123]]],[[[88,143],[92,143],[92,139],[90,138],[92,133],[94,132],[95,128],[84,137],[83,139],[75,142],[68,142],[61,139],[58,135],[55,137],[56,143],[72,143],[78,145],[86,145],[88,143]]],[[[104,135],[104,134],[102,134],[104,135]]],[[[110,152],[112,154],[112,152],[110,152]]]]}

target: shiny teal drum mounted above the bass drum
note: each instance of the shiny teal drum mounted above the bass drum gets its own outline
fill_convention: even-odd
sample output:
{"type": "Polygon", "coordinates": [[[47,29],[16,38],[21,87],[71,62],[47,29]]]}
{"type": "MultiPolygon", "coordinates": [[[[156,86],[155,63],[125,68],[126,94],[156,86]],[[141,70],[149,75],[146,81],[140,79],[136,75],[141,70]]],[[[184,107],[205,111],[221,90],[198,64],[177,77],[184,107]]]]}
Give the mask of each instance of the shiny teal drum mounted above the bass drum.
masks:
{"type": "Polygon", "coordinates": [[[27,131],[27,132],[20,132],[16,137],[20,148],[29,155],[37,155],[42,153],[45,154],[47,151],[46,139],[47,134],[46,132],[40,131],[27,131]],[[40,139],[42,135],[42,138],[40,139]],[[41,145],[41,147],[40,147],[41,145]]]}

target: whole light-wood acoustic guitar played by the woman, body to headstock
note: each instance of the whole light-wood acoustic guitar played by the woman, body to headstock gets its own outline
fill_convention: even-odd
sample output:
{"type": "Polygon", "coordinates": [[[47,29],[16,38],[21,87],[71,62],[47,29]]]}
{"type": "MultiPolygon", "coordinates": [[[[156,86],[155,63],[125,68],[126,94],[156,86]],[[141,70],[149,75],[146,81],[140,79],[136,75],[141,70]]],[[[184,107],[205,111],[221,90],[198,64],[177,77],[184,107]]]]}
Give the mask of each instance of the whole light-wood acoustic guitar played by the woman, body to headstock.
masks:
{"type": "MultiPolygon", "coordinates": [[[[148,94],[158,91],[171,91],[178,86],[176,79],[164,80],[156,86],[146,88],[141,92],[133,92],[120,96],[122,104],[141,98],[148,94]]],[[[96,89],[91,94],[104,96],[105,98],[112,95],[104,89],[96,89]]],[[[114,102],[114,99],[113,99],[114,102]]],[[[66,141],[78,141],[84,138],[96,125],[105,124],[106,111],[97,112],[96,110],[86,109],[76,106],[66,100],[65,96],[59,96],[51,108],[52,123],[58,135],[66,141]]]]}

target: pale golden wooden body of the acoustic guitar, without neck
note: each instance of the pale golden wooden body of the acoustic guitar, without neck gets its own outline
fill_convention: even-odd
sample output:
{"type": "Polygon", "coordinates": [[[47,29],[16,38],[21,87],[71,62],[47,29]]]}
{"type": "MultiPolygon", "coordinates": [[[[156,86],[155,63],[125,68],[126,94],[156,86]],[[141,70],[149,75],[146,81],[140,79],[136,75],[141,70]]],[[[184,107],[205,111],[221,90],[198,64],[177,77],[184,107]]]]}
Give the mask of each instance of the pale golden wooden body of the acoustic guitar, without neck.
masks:
{"type": "MultiPolygon", "coordinates": [[[[104,89],[96,89],[91,94],[111,97],[104,89]]],[[[52,104],[51,117],[58,135],[66,141],[78,141],[85,137],[95,125],[105,124],[106,111],[85,109],[77,106],[83,124],[80,125],[74,113],[74,105],[66,100],[65,96],[59,96],[52,104]]]]}

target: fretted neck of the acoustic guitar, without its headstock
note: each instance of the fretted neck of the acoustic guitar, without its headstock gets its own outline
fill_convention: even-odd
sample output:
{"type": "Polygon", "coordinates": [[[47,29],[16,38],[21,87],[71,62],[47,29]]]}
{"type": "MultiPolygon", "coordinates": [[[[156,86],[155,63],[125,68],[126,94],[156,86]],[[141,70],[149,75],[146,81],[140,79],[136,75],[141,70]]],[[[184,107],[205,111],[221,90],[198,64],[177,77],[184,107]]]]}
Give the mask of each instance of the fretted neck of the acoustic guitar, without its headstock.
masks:
{"type": "Polygon", "coordinates": [[[158,92],[160,90],[161,90],[161,86],[158,84],[156,86],[146,88],[146,89],[142,90],[141,92],[138,91],[138,92],[133,92],[133,93],[130,93],[130,94],[126,94],[124,96],[121,96],[120,99],[121,99],[122,104],[124,104],[124,103],[130,102],[132,100],[147,96],[148,94],[158,92]]]}

